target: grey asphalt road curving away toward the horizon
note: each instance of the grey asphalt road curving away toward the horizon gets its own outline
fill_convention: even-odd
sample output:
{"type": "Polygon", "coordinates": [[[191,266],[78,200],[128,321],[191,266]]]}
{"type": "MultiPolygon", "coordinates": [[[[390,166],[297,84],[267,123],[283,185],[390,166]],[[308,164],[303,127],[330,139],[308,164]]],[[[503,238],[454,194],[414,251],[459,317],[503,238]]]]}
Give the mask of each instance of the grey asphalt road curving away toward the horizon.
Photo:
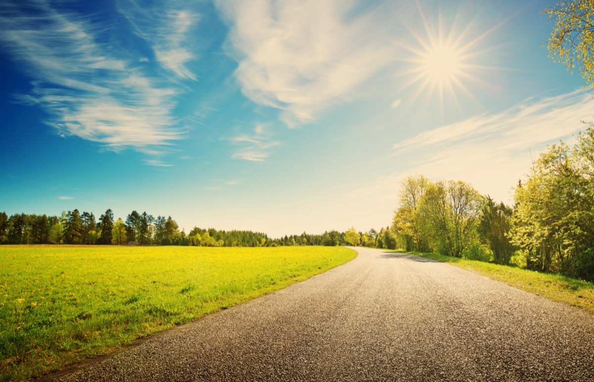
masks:
{"type": "Polygon", "coordinates": [[[349,263],[152,337],[79,380],[594,380],[594,317],[425,258],[349,263]]]}

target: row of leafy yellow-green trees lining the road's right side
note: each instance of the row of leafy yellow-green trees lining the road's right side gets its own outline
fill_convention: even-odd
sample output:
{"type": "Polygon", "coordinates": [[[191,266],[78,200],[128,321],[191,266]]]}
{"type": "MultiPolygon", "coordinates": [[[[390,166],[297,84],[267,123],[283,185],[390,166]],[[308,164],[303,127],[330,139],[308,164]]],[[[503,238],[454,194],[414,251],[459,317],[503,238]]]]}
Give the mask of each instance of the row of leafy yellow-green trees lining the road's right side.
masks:
{"type": "Polygon", "coordinates": [[[407,251],[510,264],[594,280],[594,125],[533,162],[513,206],[462,181],[402,182],[391,231],[407,251]]]}

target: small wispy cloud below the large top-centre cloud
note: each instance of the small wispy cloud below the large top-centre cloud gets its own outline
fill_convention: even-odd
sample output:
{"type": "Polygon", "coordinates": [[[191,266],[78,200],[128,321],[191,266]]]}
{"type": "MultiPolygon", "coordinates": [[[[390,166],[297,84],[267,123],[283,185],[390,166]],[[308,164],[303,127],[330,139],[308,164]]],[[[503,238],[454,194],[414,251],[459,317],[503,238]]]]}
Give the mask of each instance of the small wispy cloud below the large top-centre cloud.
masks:
{"type": "Polygon", "coordinates": [[[280,145],[279,141],[273,140],[270,128],[266,125],[257,125],[253,134],[241,134],[230,138],[232,144],[241,146],[231,158],[251,160],[252,162],[264,162],[271,154],[271,149],[280,145]]]}

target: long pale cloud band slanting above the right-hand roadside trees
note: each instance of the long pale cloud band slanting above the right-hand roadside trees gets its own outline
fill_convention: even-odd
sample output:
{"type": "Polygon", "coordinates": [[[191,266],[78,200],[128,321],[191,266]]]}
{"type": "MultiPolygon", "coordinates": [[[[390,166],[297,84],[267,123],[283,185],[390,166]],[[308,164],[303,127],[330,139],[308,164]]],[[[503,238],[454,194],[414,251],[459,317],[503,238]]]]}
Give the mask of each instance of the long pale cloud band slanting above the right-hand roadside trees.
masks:
{"type": "Polygon", "coordinates": [[[394,144],[392,154],[402,168],[381,176],[347,197],[374,197],[396,203],[400,181],[422,173],[431,179],[462,179],[497,200],[511,199],[511,187],[529,172],[533,159],[558,140],[573,135],[592,119],[589,92],[529,99],[501,113],[478,115],[425,131],[394,144]]]}

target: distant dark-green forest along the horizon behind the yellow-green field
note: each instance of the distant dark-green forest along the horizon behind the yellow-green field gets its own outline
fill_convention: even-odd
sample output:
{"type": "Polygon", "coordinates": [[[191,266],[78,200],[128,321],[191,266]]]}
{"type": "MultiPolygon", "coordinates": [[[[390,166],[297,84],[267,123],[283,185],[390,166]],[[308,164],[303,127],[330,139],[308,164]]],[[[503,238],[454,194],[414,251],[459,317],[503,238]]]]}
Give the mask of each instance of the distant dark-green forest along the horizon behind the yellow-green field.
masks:
{"type": "Polygon", "coordinates": [[[280,245],[366,245],[396,248],[389,228],[369,232],[327,231],[321,235],[290,235],[272,239],[266,233],[252,231],[218,231],[214,228],[192,228],[179,231],[172,217],[132,211],[126,220],[113,219],[108,209],[97,220],[92,212],[77,209],[63,211],[61,216],[0,213],[0,244],[81,244],[81,245],[194,245],[201,247],[276,247],[280,245]]]}

